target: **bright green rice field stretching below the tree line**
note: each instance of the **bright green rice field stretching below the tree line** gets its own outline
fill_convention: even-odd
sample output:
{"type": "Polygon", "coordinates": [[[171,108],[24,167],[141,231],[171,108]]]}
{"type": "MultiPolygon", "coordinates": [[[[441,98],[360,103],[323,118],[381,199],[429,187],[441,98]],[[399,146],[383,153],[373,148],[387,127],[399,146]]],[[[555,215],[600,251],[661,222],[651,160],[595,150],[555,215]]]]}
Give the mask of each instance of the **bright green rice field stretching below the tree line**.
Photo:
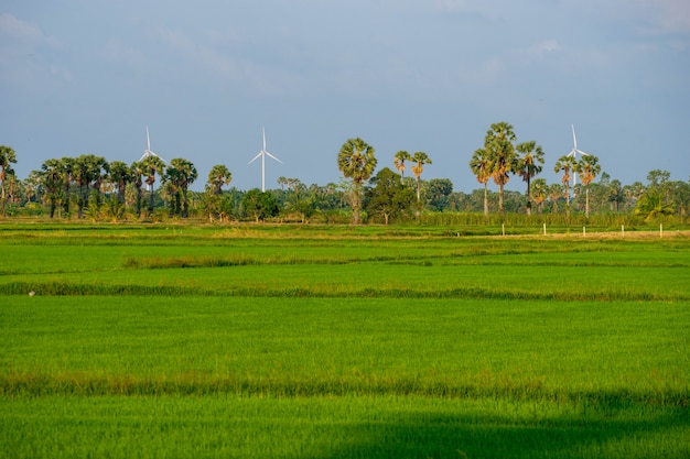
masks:
{"type": "Polygon", "coordinates": [[[690,455],[687,234],[0,233],[0,457],[690,455]]]}

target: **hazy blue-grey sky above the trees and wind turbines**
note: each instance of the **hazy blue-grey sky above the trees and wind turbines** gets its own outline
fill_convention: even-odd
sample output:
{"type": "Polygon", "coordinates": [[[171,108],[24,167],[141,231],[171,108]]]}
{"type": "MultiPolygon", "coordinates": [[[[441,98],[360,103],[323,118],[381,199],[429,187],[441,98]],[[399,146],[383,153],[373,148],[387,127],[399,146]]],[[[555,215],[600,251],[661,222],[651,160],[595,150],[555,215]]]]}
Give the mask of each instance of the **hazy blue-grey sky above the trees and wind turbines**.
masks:
{"type": "MultiPolygon", "coordinates": [[[[377,171],[425,152],[423,179],[481,188],[492,123],[543,151],[578,146],[624,185],[690,179],[688,0],[0,0],[0,144],[20,178],[86,153],[147,147],[230,186],[338,183],[362,138],[377,171]]],[[[408,170],[409,175],[409,170],[408,170]]],[[[495,185],[490,185],[495,189],[495,185]]],[[[524,190],[511,177],[507,189],[524,190]]]]}

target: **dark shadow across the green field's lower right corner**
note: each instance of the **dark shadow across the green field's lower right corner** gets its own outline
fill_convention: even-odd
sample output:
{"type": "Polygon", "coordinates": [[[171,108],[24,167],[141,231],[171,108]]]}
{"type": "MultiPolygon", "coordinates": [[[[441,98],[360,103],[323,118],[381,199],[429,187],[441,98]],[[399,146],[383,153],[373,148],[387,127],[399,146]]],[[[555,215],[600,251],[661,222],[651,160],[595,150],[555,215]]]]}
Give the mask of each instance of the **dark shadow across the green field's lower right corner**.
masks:
{"type": "MultiPolygon", "coordinates": [[[[364,422],[334,435],[316,458],[681,458],[690,457],[687,411],[648,420],[509,416],[407,416],[364,422]]],[[[613,417],[625,417],[617,416],[613,417]]],[[[328,436],[326,436],[328,437],[328,436]]]]}

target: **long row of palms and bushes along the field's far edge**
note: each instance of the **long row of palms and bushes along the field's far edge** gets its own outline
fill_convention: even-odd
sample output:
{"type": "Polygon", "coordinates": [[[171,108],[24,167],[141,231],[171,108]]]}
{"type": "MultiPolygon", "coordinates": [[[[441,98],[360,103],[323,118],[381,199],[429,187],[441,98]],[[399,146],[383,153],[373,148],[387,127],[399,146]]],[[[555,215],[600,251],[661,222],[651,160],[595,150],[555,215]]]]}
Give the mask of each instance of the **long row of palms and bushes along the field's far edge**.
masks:
{"type": "Polygon", "coordinates": [[[374,174],[378,161],[374,146],[360,138],[348,139],[337,154],[343,175],[339,184],[306,186],[298,178],[280,177],[278,188],[261,192],[224,189],[233,174],[226,165],[209,171],[203,193],[190,190],[198,178],[194,164],[185,159],[170,163],[148,155],[126,164],[83,154],[45,161],[40,170],[19,179],[12,168],[17,155],[0,146],[0,199],[2,216],[47,215],[50,218],[88,217],[160,219],[165,217],[207,218],[212,221],[270,218],[308,222],[405,222],[420,220],[422,212],[634,214],[646,220],[677,215],[684,221],[690,201],[690,183],[671,181],[670,173],[654,170],[647,184],[623,185],[602,173],[599,159],[583,155],[579,161],[561,156],[553,170],[561,182],[547,184],[538,178],[543,171],[545,152],[536,141],[517,142],[514,128],[498,122],[487,130],[484,144],[472,154],[468,166],[483,189],[470,194],[453,192],[448,178],[422,179],[425,152],[400,150],[390,167],[374,174]],[[410,170],[412,177],[406,176],[410,170]],[[526,184],[525,193],[505,190],[511,176],[526,184]],[[574,176],[580,183],[571,185],[574,176]],[[600,177],[599,183],[594,179],[600,177]],[[498,192],[488,189],[493,179],[498,192]],[[158,188],[157,188],[158,184],[158,188]]]}

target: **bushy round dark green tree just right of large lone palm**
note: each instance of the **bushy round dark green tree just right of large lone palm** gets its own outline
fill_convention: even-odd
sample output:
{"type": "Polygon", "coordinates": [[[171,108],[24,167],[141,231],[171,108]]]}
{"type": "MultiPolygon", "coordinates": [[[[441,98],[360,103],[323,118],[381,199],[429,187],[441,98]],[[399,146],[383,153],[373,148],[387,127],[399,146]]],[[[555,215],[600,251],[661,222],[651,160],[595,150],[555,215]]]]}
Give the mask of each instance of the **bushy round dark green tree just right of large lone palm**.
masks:
{"type": "Polygon", "coordinates": [[[391,218],[409,212],[414,193],[402,185],[400,175],[384,167],[369,183],[371,187],[365,193],[365,209],[369,214],[384,217],[385,225],[388,225],[391,218]]]}

